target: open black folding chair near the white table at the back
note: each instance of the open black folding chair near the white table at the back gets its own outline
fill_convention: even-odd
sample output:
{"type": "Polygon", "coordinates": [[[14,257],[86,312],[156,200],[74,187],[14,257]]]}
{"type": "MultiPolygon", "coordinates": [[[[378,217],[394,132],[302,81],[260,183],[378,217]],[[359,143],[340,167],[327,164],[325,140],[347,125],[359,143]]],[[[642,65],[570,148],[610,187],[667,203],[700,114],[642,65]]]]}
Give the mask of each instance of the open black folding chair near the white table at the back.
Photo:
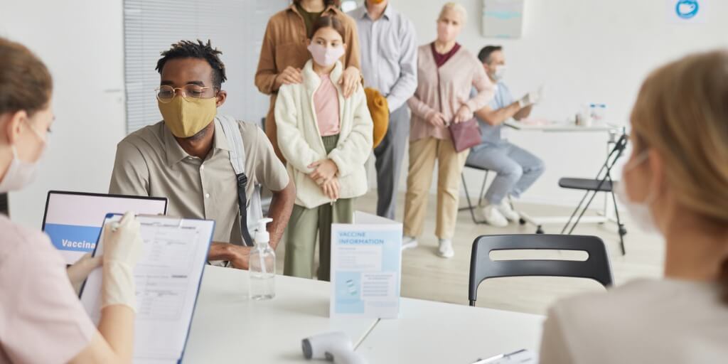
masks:
{"type": "Polygon", "coordinates": [[[560,180],[558,180],[558,186],[564,189],[578,189],[586,191],[584,197],[582,197],[581,201],[579,201],[579,205],[577,205],[577,208],[574,209],[574,213],[571,213],[569,221],[566,221],[566,225],[564,225],[563,229],[561,229],[561,234],[564,234],[566,230],[569,229],[570,225],[571,229],[569,229],[569,232],[566,234],[571,234],[572,232],[574,232],[574,229],[579,224],[582,216],[584,216],[584,213],[587,212],[589,205],[591,205],[594,197],[596,197],[596,194],[598,192],[606,192],[612,195],[612,202],[614,203],[614,215],[616,215],[617,217],[617,232],[620,234],[620,248],[622,249],[622,256],[625,255],[624,236],[625,234],[627,234],[627,229],[625,229],[624,224],[622,224],[622,221],[620,220],[620,211],[617,210],[617,198],[614,197],[614,181],[612,181],[611,172],[612,167],[614,167],[620,157],[622,157],[622,154],[624,154],[625,148],[627,146],[627,141],[627,134],[622,134],[619,140],[614,143],[614,148],[612,149],[612,151],[609,151],[609,155],[607,155],[606,161],[604,161],[604,165],[601,166],[599,172],[596,174],[596,178],[561,178],[560,180]],[[589,194],[591,194],[591,197],[586,205],[584,205],[584,207],[582,208],[584,200],[589,196],[589,194]],[[579,210],[582,210],[581,213],[579,213],[579,210]],[[579,217],[577,217],[576,221],[574,221],[574,216],[576,216],[577,213],[579,213],[579,217]],[[572,224],[571,221],[574,221],[574,223],[572,224]]]}

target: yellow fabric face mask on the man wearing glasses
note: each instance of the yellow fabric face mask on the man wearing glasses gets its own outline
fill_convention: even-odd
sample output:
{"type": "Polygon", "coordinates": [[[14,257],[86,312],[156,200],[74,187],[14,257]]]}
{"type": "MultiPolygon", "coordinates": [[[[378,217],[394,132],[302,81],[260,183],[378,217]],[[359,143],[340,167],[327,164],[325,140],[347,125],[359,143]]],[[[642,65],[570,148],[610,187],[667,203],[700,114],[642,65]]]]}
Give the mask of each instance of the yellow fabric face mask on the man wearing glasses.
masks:
{"type": "Polygon", "coordinates": [[[169,103],[157,100],[159,112],[172,135],[189,138],[205,129],[218,114],[217,98],[183,98],[176,95],[169,103]]]}

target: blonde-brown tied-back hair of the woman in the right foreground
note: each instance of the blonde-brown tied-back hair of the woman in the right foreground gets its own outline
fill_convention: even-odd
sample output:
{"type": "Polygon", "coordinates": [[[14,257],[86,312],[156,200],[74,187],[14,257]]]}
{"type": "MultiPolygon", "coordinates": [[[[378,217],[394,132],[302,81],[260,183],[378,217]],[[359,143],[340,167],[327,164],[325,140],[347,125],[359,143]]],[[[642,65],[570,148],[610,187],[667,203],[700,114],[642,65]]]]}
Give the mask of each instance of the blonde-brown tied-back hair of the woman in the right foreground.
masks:
{"type": "MultiPolygon", "coordinates": [[[[660,154],[681,208],[728,228],[728,50],[652,72],[630,119],[635,149],[660,154]]],[[[728,261],[722,268],[728,293],[728,261]]]]}

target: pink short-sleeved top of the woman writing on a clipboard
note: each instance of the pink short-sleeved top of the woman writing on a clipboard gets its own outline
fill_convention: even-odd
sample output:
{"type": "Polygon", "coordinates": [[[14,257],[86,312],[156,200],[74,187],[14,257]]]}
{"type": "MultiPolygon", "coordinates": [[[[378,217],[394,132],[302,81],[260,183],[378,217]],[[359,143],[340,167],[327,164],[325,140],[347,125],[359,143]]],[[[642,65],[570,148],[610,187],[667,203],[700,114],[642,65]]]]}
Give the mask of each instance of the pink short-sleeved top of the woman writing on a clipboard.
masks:
{"type": "Polygon", "coordinates": [[[66,363],[95,332],[47,235],[0,215],[0,364],[66,363]]]}

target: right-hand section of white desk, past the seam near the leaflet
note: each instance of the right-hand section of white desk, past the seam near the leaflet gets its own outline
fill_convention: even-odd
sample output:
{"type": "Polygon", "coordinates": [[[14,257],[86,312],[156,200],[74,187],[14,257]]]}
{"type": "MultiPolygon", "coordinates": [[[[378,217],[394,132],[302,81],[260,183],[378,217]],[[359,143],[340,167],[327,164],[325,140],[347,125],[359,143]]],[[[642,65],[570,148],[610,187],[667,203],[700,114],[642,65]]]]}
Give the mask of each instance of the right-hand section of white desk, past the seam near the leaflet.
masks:
{"type": "Polygon", "coordinates": [[[397,320],[380,320],[357,349],[369,364],[470,364],[519,349],[538,351],[545,317],[402,298],[397,320]]]}

